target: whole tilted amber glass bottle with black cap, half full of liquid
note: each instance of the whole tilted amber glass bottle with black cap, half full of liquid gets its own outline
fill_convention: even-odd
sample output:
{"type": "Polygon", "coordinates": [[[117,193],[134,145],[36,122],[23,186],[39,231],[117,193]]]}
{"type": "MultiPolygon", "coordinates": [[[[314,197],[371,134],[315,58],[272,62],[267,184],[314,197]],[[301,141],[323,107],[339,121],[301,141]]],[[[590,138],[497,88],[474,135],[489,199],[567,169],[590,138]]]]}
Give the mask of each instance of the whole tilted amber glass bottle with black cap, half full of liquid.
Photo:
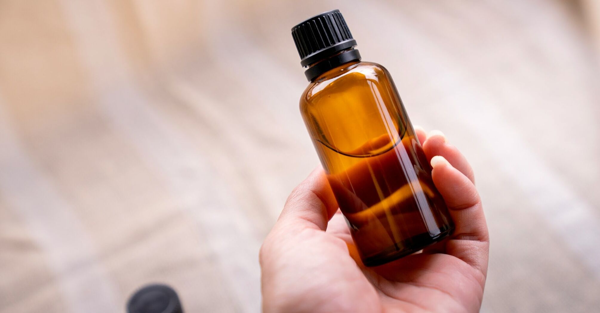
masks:
{"type": "Polygon", "coordinates": [[[310,85],[300,110],[366,266],[451,234],[448,209],[388,71],[361,62],[340,11],[292,28],[310,85]]]}

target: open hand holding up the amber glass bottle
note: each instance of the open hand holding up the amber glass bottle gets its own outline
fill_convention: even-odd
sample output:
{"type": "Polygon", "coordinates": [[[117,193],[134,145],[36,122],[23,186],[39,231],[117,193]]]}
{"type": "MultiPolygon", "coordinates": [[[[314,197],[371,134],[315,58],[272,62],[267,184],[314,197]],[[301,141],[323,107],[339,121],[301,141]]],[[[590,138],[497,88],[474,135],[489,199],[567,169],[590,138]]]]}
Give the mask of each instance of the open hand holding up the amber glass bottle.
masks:
{"type": "Polygon", "coordinates": [[[365,267],[325,174],[313,171],[287,199],[260,249],[265,312],[476,312],[488,230],[473,172],[439,131],[419,141],[455,231],[400,260],[365,267]]]}

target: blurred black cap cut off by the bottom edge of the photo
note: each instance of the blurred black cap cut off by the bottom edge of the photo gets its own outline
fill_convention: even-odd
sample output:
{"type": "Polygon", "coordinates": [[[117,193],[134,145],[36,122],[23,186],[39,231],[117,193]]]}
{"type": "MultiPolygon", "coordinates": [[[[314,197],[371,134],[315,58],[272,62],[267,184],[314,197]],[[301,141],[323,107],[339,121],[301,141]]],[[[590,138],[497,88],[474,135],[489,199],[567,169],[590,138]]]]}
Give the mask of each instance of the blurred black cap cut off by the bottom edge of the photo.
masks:
{"type": "Polygon", "coordinates": [[[147,285],[127,303],[127,313],[183,313],[175,290],[167,285],[147,285]]]}

